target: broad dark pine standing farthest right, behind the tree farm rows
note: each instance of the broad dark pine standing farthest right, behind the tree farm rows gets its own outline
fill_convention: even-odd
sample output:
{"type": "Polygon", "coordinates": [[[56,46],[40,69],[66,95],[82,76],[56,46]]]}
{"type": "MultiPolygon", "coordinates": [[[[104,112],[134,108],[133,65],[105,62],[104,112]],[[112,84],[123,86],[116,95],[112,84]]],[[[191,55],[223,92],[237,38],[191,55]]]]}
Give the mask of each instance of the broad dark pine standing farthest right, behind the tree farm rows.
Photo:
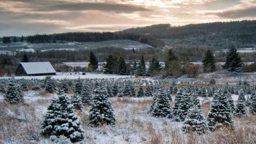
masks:
{"type": "Polygon", "coordinates": [[[227,69],[228,71],[234,71],[237,73],[243,71],[242,60],[239,56],[239,53],[237,53],[237,49],[235,49],[235,47],[231,46],[231,48],[229,49],[229,53],[226,57],[226,63],[223,68],[227,69]]]}

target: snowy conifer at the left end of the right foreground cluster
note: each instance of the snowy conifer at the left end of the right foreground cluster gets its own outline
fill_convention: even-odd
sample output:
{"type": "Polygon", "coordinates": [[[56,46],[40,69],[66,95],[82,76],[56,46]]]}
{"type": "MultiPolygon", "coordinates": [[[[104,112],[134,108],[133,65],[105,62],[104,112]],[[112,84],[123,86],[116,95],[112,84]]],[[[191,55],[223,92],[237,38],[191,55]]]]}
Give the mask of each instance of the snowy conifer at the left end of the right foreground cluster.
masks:
{"type": "Polygon", "coordinates": [[[169,98],[167,97],[167,93],[163,88],[160,88],[157,92],[157,97],[152,107],[152,115],[154,117],[173,117],[169,98]]]}

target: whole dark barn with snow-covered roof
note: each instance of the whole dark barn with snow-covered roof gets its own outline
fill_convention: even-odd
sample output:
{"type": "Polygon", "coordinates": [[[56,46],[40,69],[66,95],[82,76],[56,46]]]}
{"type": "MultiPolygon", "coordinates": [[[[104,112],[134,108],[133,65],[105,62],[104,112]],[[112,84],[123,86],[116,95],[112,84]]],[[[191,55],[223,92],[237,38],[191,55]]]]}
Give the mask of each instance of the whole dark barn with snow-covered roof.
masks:
{"type": "Polygon", "coordinates": [[[49,61],[19,63],[15,75],[56,75],[49,61]]]}

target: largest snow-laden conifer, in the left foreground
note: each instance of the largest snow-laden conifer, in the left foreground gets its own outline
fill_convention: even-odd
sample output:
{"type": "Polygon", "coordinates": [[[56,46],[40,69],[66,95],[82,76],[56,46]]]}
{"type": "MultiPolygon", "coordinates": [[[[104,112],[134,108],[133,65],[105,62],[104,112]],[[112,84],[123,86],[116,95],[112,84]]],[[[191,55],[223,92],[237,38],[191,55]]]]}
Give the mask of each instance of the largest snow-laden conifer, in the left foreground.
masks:
{"type": "Polygon", "coordinates": [[[58,99],[53,99],[41,124],[41,135],[52,141],[65,136],[72,143],[84,139],[79,116],[71,100],[63,95],[63,90],[57,89],[58,99]]]}

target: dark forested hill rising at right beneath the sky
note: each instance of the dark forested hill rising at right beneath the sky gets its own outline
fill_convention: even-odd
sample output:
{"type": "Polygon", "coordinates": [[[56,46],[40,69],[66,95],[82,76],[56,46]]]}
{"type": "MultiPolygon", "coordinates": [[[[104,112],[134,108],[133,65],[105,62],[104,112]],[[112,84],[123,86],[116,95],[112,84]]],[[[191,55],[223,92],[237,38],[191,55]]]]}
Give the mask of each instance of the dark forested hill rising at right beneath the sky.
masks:
{"type": "Polygon", "coordinates": [[[149,35],[163,39],[167,45],[227,47],[232,43],[237,47],[251,47],[251,44],[256,44],[256,21],[201,23],[180,27],[160,24],[117,33],[149,35]]]}

